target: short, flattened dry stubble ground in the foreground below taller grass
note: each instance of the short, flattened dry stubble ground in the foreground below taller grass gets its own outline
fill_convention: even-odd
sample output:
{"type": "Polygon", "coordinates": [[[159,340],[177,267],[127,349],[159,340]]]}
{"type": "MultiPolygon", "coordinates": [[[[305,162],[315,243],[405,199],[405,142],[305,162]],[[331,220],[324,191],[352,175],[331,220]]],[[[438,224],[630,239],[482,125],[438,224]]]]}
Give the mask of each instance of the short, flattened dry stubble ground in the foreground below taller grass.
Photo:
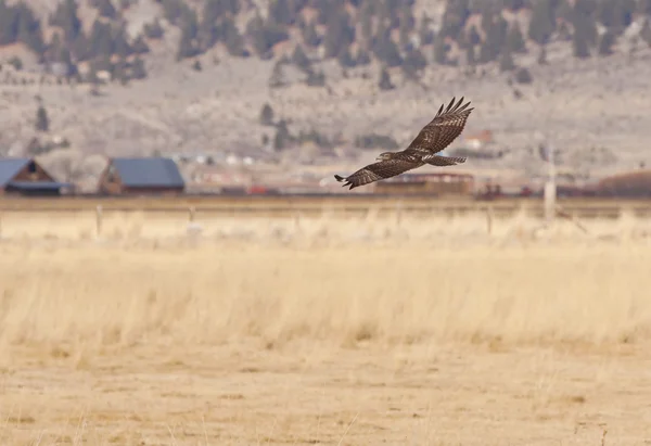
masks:
{"type": "Polygon", "coordinates": [[[8,445],[651,442],[641,347],[242,343],[92,364],[21,356],[0,379],[8,445]]]}

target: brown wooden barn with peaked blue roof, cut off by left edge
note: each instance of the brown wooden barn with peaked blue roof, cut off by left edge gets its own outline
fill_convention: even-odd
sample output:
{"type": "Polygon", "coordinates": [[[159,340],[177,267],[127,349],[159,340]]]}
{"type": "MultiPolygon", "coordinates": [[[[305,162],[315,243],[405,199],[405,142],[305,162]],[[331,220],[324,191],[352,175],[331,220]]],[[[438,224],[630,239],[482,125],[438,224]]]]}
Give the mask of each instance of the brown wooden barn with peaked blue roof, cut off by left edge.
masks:
{"type": "Polygon", "coordinates": [[[61,195],[73,186],[56,181],[33,158],[0,158],[0,195],[61,195]]]}

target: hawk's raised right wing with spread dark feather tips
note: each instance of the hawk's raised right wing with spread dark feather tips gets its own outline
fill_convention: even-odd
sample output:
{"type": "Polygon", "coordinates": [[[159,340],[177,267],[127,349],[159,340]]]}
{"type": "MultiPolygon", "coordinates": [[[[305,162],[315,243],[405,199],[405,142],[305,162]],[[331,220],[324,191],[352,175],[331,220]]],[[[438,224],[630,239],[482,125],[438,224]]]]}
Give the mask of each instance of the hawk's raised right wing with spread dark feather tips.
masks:
{"type": "MultiPolygon", "coordinates": [[[[443,110],[445,104],[441,105],[434,119],[422,128],[416,139],[405,150],[406,152],[418,152],[424,157],[432,156],[434,153],[444,150],[461,135],[468,116],[470,116],[470,112],[474,107],[468,109],[470,102],[461,106],[463,98],[455,104],[455,99],[452,98],[445,111],[443,110]]],[[[423,158],[423,161],[425,160],[423,158]]]]}

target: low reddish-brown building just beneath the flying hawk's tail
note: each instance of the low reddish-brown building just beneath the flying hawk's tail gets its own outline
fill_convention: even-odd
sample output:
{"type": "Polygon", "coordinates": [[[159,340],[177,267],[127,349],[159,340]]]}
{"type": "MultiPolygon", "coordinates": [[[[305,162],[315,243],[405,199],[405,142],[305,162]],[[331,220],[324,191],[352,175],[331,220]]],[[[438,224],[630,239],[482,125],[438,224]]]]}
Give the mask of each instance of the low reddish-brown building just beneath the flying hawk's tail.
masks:
{"type": "Polygon", "coordinates": [[[374,183],[375,193],[472,195],[474,177],[470,174],[406,174],[374,183]]]}

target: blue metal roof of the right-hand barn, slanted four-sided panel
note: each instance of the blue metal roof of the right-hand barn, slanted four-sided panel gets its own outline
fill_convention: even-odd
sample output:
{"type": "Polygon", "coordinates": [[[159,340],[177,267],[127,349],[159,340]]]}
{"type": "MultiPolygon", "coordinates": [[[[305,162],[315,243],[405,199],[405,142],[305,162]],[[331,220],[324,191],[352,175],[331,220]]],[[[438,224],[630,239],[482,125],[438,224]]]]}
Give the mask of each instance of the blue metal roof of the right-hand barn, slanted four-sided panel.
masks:
{"type": "Polygon", "coordinates": [[[182,188],[186,184],[170,158],[113,158],[112,164],[125,186],[182,188]]]}

